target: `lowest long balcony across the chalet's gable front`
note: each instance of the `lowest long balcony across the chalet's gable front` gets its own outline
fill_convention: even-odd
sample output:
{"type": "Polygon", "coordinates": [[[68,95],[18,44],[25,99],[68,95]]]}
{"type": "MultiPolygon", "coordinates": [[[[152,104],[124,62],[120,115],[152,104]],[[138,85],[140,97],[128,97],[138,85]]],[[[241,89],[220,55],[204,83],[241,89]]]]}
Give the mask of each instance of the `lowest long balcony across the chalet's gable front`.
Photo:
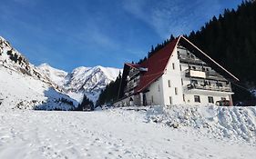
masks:
{"type": "Polygon", "coordinates": [[[201,85],[201,84],[188,84],[188,90],[200,89],[209,91],[220,91],[220,92],[232,92],[231,88],[228,86],[213,86],[213,85],[201,85]]]}

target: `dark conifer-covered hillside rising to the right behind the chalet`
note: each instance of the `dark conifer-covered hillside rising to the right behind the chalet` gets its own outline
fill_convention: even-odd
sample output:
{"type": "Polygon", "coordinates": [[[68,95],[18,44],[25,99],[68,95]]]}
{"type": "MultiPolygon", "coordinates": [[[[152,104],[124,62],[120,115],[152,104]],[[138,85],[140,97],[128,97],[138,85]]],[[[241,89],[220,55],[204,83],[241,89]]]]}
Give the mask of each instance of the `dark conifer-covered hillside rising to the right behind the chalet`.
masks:
{"type": "Polygon", "coordinates": [[[256,86],[255,1],[243,2],[237,10],[226,9],[223,15],[214,16],[199,31],[191,32],[188,38],[239,77],[241,86],[233,84],[235,101],[250,99],[250,94],[241,87],[253,90],[256,86]]]}

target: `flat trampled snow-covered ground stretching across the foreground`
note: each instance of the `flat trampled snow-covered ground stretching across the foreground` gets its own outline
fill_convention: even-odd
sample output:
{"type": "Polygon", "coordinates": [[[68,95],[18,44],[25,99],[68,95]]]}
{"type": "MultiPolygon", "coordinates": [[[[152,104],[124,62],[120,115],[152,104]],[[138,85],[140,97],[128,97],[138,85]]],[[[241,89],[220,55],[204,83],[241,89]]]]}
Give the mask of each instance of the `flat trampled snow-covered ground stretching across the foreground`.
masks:
{"type": "MultiPolygon", "coordinates": [[[[163,117],[169,111],[161,112],[159,107],[140,111],[128,109],[45,112],[0,107],[0,158],[205,159],[256,156],[253,141],[206,135],[207,132],[191,126],[192,121],[185,125],[182,121],[186,120],[180,120],[178,128],[173,128],[164,121],[174,118],[163,117]],[[154,120],[156,118],[163,120],[155,123],[159,122],[154,120]]],[[[183,116],[182,109],[177,117],[183,116]]],[[[251,109],[255,113],[255,108],[250,108],[250,112],[251,109]]],[[[241,116],[245,115],[238,115],[241,116]]],[[[248,116],[254,117],[255,128],[255,114],[248,116]]]]}

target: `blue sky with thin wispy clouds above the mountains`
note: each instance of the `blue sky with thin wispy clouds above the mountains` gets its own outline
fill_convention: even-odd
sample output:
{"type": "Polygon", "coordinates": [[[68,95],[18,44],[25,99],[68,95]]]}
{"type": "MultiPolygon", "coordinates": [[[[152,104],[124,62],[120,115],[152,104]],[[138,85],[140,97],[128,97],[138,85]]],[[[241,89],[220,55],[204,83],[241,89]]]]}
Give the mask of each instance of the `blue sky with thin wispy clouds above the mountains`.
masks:
{"type": "Polygon", "coordinates": [[[0,35],[35,65],[123,66],[241,0],[3,0],[0,35]]]}

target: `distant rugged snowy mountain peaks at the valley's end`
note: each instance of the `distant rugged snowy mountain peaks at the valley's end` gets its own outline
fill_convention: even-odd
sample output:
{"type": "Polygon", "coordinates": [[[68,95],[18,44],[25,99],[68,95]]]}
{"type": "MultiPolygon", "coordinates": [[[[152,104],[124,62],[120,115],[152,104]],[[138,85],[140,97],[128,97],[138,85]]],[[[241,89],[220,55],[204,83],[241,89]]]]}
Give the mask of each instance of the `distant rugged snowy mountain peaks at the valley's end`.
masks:
{"type": "Polygon", "coordinates": [[[115,81],[121,72],[118,68],[100,65],[95,67],[80,66],[71,73],[58,70],[47,64],[39,65],[37,68],[42,75],[45,75],[77,101],[81,101],[83,95],[86,94],[94,102],[97,101],[100,91],[111,81],[115,81]]]}

